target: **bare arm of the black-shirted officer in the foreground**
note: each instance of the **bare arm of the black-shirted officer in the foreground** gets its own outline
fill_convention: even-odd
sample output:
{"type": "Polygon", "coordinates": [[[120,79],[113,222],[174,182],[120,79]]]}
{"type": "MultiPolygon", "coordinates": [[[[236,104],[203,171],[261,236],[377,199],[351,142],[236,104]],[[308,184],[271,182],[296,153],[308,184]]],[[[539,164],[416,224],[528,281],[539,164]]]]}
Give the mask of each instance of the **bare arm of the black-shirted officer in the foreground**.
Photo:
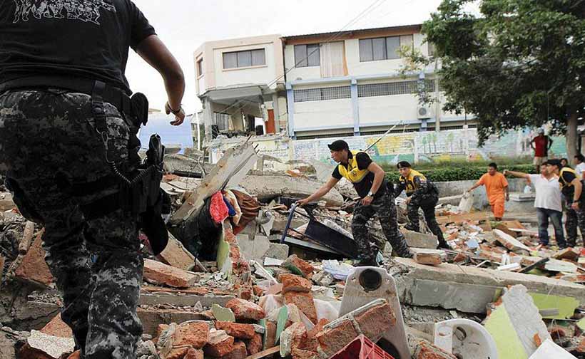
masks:
{"type": "Polygon", "coordinates": [[[136,52],[163,76],[168,95],[168,107],[180,110],[175,114],[175,121],[171,125],[180,125],[185,120],[185,112],[180,105],[185,93],[185,76],[175,56],[156,35],[148,36],[141,41],[136,47],[136,52]]]}

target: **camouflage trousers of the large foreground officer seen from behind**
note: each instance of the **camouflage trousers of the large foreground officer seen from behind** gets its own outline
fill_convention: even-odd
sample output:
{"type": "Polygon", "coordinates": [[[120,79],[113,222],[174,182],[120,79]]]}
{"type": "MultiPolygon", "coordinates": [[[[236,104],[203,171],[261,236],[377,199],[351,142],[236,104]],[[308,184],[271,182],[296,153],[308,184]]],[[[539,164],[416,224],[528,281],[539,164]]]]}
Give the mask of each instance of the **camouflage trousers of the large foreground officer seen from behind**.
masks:
{"type": "MultiPolygon", "coordinates": [[[[112,105],[105,110],[111,152],[126,158],[128,125],[112,105]]],[[[82,358],[135,358],[143,269],[136,218],[118,210],[87,220],[81,212],[117,189],[100,181],[111,173],[93,130],[90,97],[63,90],[0,94],[0,170],[8,171],[21,212],[45,227],[62,318],[82,358]],[[73,186],[91,182],[95,192],[72,194],[73,186]]]]}

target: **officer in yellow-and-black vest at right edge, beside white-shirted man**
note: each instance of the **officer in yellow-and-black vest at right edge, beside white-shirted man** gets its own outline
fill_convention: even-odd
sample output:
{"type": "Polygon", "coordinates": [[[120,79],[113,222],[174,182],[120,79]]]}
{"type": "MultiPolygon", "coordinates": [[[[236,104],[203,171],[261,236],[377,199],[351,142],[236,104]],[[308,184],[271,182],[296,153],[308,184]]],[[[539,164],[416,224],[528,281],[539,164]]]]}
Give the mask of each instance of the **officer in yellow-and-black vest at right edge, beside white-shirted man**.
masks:
{"type": "MultiPolygon", "coordinates": [[[[561,193],[569,207],[568,209],[574,209],[577,214],[577,224],[582,236],[585,234],[585,195],[583,194],[583,181],[581,177],[571,167],[564,167],[561,164],[561,160],[549,160],[546,164],[546,170],[550,174],[559,176],[561,193]]],[[[574,217],[567,216],[566,222],[565,227],[576,227],[574,217]]],[[[576,229],[574,231],[576,232],[576,229]]],[[[574,236],[568,236],[566,244],[568,246],[576,245],[576,233],[574,236]]]]}

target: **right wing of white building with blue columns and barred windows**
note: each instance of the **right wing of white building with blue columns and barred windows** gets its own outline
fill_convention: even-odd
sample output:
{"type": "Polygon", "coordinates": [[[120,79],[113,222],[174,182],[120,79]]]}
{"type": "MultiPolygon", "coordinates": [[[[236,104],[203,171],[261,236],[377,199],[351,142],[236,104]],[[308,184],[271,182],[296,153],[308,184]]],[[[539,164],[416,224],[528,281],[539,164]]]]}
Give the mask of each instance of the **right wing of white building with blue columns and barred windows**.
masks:
{"type": "MultiPolygon", "coordinates": [[[[315,33],[283,38],[288,135],[295,139],[462,128],[464,118],[421,105],[417,88],[440,98],[434,67],[402,76],[399,49],[429,56],[420,25],[315,33]]],[[[431,53],[432,55],[432,53],[431,53]]]]}

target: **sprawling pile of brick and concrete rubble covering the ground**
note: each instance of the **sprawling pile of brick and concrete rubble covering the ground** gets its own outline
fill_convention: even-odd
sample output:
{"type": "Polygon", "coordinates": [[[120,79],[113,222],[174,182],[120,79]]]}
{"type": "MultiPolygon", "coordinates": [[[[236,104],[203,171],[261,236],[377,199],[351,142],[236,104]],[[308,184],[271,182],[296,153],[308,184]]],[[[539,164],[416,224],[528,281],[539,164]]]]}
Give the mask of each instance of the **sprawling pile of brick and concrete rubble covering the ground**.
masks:
{"type": "MultiPolygon", "coordinates": [[[[529,220],[494,223],[442,201],[452,249],[437,250],[426,226],[404,229],[399,198],[414,258],[392,257],[372,221],[381,266],[355,268],[339,248],[351,239],[352,189],[292,211],[328,170],[265,176],[250,172],[258,162],[245,144],[197,179],[175,158],[161,184],[173,200],[169,244],[154,256],[141,236],[137,358],[585,358],[583,249],[544,248],[529,220]],[[218,223],[218,213],[228,214],[218,223]],[[315,236],[315,222],[332,236],[315,236]]],[[[42,231],[0,188],[0,359],[78,358],[42,231]]]]}

